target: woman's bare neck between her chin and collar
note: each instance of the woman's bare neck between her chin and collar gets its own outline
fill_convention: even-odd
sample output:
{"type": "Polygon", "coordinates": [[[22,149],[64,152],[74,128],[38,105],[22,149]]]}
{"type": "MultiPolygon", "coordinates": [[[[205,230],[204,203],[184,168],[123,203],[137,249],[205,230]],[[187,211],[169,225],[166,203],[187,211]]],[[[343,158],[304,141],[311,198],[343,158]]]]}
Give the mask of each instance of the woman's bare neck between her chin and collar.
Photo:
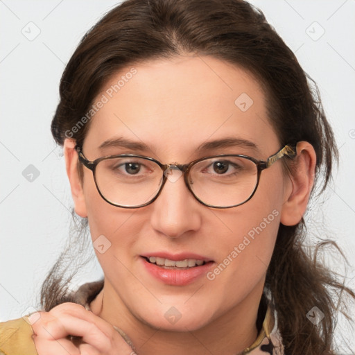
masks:
{"type": "Polygon", "coordinates": [[[257,313],[263,282],[250,295],[224,315],[195,331],[164,331],[135,318],[125,307],[110,283],[90,304],[103,320],[122,329],[139,355],[236,355],[257,338],[257,313]]]}

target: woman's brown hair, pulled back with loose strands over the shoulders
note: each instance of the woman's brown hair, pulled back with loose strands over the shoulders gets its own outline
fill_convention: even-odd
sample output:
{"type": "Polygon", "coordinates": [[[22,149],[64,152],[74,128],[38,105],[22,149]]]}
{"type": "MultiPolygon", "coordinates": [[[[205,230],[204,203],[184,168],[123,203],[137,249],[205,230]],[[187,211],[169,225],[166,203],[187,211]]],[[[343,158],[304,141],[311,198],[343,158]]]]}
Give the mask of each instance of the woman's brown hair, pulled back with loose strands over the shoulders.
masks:
{"type": "MultiPolygon", "coordinates": [[[[318,186],[321,191],[326,187],[338,152],[318,89],[263,13],[241,0],[128,0],[108,12],[83,37],[64,69],[51,123],[55,141],[62,145],[71,132],[83,144],[91,120],[75,133],[72,128],[118,71],[186,53],[211,55],[252,73],[263,85],[280,143],[312,144],[318,186]]],[[[335,297],[343,291],[355,295],[307,252],[305,236],[303,218],[298,225],[279,226],[265,288],[277,311],[286,354],[334,354],[338,300],[332,292],[335,297]],[[317,326],[306,318],[314,306],[324,313],[317,326]]],[[[67,279],[59,272],[62,261],[42,286],[46,311],[67,300],[67,279]]]]}

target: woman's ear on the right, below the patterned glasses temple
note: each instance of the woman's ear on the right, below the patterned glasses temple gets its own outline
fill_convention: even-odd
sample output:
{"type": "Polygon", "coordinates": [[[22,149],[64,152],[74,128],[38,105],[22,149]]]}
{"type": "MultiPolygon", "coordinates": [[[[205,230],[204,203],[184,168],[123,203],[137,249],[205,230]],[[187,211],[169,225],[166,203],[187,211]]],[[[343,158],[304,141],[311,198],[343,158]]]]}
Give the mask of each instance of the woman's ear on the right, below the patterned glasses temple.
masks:
{"type": "Polygon", "coordinates": [[[315,175],[315,150],[306,141],[297,144],[297,157],[291,166],[286,202],[282,206],[281,223],[297,225],[306,211],[315,175]]]}

